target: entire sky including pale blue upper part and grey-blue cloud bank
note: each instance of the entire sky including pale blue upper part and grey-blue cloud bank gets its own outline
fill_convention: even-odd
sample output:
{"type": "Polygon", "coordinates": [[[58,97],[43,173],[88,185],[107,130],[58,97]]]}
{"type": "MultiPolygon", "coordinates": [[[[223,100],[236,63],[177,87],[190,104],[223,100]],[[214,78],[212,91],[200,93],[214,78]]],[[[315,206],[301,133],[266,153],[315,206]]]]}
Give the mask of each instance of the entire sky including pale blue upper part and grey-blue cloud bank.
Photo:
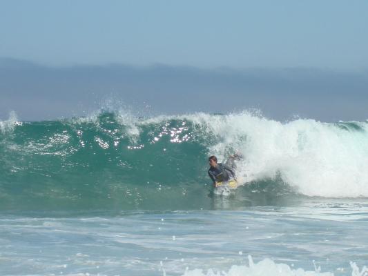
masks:
{"type": "Polygon", "coordinates": [[[108,100],[368,119],[367,12],[363,0],[0,0],[0,119],[80,115],[108,100]]]}

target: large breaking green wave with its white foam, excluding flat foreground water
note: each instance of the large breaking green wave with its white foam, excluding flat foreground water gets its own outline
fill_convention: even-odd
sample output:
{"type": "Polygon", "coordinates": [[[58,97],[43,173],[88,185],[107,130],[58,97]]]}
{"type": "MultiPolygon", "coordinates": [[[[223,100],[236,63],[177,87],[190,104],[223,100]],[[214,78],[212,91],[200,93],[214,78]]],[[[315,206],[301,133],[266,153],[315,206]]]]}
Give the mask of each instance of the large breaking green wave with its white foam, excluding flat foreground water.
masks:
{"type": "Polygon", "coordinates": [[[246,185],[230,207],[284,195],[368,197],[367,130],[367,122],[281,123],[249,112],[12,115],[0,121],[0,210],[213,208],[207,158],[234,152],[244,155],[238,176],[246,185]]]}

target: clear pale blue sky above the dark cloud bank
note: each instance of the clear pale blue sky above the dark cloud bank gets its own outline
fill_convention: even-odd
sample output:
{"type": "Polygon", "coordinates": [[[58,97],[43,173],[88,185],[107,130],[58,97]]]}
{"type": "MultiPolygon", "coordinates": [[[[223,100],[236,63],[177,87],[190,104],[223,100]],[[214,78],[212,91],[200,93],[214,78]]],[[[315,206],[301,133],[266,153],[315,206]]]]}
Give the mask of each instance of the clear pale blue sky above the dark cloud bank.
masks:
{"type": "Polygon", "coordinates": [[[361,69],[368,1],[0,1],[0,57],[361,69]]]}

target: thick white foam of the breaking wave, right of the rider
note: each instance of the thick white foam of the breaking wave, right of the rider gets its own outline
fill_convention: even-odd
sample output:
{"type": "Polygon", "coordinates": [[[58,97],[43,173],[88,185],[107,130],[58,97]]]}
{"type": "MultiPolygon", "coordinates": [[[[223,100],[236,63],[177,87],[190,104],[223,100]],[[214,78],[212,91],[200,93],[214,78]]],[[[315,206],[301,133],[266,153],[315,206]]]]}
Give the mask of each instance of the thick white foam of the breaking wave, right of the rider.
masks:
{"type": "Polygon", "coordinates": [[[320,197],[368,197],[368,131],[346,130],[312,119],[281,123],[243,112],[197,115],[195,124],[215,136],[209,153],[244,155],[246,181],[275,177],[300,193],[320,197]]]}

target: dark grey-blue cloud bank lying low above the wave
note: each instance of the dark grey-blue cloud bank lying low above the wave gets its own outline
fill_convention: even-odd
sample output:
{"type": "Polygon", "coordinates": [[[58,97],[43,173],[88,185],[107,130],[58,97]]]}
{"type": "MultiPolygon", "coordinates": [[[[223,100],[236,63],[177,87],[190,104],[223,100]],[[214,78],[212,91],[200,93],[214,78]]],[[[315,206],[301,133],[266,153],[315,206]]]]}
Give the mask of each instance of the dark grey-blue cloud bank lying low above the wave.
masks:
{"type": "Polygon", "coordinates": [[[293,115],[322,121],[364,120],[367,89],[367,70],[204,70],[122,64],[56,68],[0,59],[2,119],[10,110],[25,120],[84,115],[110,99],[141,115],[258,108],[280,120],[293,115]]]}

